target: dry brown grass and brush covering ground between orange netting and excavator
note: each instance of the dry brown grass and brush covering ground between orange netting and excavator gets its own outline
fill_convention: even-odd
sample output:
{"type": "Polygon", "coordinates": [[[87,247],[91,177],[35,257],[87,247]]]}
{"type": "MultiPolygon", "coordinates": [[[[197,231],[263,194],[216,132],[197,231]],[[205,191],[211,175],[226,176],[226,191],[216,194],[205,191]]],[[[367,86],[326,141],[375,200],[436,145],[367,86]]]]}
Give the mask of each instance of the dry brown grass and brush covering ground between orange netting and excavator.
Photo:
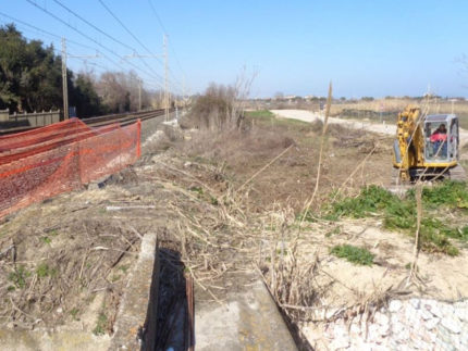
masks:
{"type": "Polygon", "coordinates": [[[247,285],[239,274],[255,273],[297,330],[310,321],[372,314],[395,294],[452,298],[435,288],[451,277],[468,288],[456,272],[446,273],[466,265],[458,242],[463,252],[451,261],[421,254],[427,290],[410,290],[402,281],[412,260],[411,234],[385,229],[378,212],[359,220],[333,213],[333,203],[358,199],[362,187],[391,183],[390,139],[330,125],[318,173],[322,123],[244,114],[236,95],[212,88],[184,130],[167,129],[102,189],[57,197],[3,223],[0,322],[34,328],[84,319],[86,305],[103,293],[89,328],[112,330],[123,267],[149,230],[158,231],[177,279],[193,277],[198,301],[224,304],[229,291],[247,285]],[[370,263],[368,253],[370,265],[344,260],[370,263]]]}

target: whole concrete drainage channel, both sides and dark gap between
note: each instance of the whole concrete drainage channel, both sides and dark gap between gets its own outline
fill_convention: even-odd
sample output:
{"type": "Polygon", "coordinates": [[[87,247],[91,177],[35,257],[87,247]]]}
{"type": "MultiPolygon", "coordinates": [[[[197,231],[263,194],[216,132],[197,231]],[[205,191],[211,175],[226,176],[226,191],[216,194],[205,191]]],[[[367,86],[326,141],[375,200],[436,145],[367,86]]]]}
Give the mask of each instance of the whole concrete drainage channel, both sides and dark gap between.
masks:
{"type": "Polygon", "coordinates": [[[227,279],[222,300],[202,298],[180,252],[158,248],[157,235],[146,234],[109,350],[297,350],[259,277],[233,273],[227,279]]]}

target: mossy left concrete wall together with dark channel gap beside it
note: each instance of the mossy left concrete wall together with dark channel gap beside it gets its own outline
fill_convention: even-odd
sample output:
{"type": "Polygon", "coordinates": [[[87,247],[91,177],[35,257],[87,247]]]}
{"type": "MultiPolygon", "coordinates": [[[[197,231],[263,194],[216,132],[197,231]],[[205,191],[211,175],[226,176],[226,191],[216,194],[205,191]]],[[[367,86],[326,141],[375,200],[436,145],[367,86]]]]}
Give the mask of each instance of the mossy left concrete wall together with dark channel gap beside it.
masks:
{"type": "Polygon", "coordinates": [[[146,234],[109,350],[194,350],[194,287],[178,252],[146,234]]]}

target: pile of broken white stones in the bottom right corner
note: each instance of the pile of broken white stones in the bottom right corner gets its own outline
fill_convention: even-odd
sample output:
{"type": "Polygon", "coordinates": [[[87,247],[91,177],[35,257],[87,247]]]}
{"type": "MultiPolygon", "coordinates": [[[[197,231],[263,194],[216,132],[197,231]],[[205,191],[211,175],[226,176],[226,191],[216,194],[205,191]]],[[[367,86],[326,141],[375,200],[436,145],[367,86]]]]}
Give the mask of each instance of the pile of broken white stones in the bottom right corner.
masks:
{"type": "Polygon", "coordinates": [[[392,300],[369,321],[336,319],[320,334],[308,335],[318,350],[468,350],[468,300],[392,300]]]}

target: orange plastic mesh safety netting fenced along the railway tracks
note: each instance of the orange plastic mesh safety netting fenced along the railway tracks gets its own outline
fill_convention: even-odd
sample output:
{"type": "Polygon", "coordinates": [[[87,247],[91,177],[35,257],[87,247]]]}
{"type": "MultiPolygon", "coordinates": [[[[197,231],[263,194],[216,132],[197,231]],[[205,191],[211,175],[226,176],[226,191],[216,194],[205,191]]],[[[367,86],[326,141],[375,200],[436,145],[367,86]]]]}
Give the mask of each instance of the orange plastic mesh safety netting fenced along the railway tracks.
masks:
{"type": "Polygon", "coordinates": [[[0,137],[0,217],[134,163],[140,133],[140,121],[90,128],[72,118],[0,137]]]}

